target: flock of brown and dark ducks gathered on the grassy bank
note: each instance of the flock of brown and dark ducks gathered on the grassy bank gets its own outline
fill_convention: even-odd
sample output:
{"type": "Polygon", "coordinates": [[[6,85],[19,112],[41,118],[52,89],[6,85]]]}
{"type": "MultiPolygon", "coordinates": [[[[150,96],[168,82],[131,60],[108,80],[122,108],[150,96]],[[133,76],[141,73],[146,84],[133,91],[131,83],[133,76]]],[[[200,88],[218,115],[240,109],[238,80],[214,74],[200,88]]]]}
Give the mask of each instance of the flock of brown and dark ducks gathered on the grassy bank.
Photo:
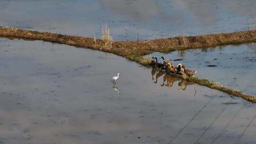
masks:
{"type": "Polygon", "coordinates": [[[157,58],[152,57],[151,66],[164,70],[168,74],[182,74],[183,76],[189,77],[193,77],[196,74],[196,71],[187,69],[186,66],[181,63],[175,67],[171,60],[165,60],[163,56],[161,56],[161,58],[163,59],[163,63],[158,63],[157,58]]]}

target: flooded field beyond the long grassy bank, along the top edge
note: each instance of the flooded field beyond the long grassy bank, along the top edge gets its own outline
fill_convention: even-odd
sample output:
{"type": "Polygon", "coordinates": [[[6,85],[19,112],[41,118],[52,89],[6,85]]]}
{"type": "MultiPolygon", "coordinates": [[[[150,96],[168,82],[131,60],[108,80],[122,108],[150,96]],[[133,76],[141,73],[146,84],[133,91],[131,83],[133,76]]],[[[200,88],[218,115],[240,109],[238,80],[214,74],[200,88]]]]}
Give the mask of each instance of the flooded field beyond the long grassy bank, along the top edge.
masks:
{"type": "Polygon", "coordinates": [[[255,0],[0,0],[0,24],[114,40],[166,38],[255,28],[255,0]]]}

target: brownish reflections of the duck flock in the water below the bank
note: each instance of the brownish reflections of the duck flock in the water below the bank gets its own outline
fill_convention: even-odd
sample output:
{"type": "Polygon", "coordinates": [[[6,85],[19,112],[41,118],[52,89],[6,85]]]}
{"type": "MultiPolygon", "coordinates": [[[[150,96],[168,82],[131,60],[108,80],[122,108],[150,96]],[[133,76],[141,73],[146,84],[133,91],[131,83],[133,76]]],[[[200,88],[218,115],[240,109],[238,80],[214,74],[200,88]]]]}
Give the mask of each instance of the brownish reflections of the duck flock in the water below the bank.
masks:
{"type": "MultiPolygon", "coordinates": [[[[165,73],[161,72],[161,71],[157,72],[156,75],[155,75],[155,73],[156,73],[156,70],[152,69],[151,70],[152,81],[154,83],[157,83],[158,78],[160,78],[165,73]],[[154,81],[154,76],[155,76],[155,81],[154,81]]],[[[160,84],[160,86],[161,87],[166,86],[166,87],[171,88],[171,87],[173,87],[175,81],[179,81],[179,83],[178,83],[179,89],[178,90],[186,90],[187,86],[195,84],[192,81],[185,81],[185,80],[179,79],[177,77],[174,77],[172,75],[165,74],[163,77],[163,83],[160,84]]]]}

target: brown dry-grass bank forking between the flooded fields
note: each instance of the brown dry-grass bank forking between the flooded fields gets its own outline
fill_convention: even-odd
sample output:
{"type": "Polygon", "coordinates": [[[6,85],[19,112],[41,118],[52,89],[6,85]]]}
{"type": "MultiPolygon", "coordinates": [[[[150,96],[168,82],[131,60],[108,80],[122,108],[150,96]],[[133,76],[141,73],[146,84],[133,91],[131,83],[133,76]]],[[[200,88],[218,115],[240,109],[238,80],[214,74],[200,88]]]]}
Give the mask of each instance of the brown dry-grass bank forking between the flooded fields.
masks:
{"type": "MultiPolygon", "coordinates": [[[[108,42],[100,39],[87,38],[82,36],[66,36],[61,34],[54,34],[48,32],[37,32],[29,30],[21,30],[18,28],[0,28],[0,36],[25,38],[32,40],[43,40],[52,43],[74,45],[84,48],[91,48],[101,50],[126,57],[128,60],[136,61],[137,63],[149,66],[150,60],[143,58],[145,54],[158,52],[169,52],[175,50],[183,50],[189,48],[238,44],[245,42],[256,41],[256,31],[241,31],[226,34],[212,34],[202,36],[179,36],[167,39],[156,39],[147,41],[130,41],[130,42],[108,42]]],[[[174,75],[182,78],[180,75],[174,75]]],[[[238,96],[251,102],[256,102],[256,97],[244,94],[237,90],[232,90],[219,85],[215,82],[200,79],[200,78],[187,78],[188,81],[196,82],[200,85],[209,88],[220,90],[230,95],[238,96]]]]}

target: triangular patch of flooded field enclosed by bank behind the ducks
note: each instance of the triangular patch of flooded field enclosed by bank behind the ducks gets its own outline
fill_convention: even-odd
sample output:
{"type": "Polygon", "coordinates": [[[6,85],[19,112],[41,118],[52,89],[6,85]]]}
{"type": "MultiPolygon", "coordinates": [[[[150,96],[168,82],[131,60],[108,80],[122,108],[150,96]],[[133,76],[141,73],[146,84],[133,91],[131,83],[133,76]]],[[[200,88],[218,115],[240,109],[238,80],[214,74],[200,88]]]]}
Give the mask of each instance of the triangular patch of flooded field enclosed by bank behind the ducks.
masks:
{"type": "Polygon", "coordinates": [[[256,43],[147,55],[169,58],[197,71],[196,76],[256,95],[256,43]]]}

